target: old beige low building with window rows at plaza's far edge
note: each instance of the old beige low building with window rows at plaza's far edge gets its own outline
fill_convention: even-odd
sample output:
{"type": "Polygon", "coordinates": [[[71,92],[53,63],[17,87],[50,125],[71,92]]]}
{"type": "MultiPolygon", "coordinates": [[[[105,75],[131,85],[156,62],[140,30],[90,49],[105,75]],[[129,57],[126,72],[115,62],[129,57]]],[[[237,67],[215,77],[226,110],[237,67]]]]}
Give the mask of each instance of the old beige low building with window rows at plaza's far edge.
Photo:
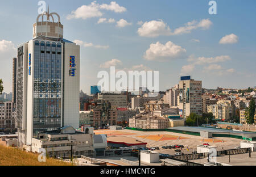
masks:
{"type": "Polygon", "coordinates": [[[141,129],[164,129],[169,126],[169,119],[163,116],[153,116],[144,113],[129,119],[129,127],[141,129]]]}

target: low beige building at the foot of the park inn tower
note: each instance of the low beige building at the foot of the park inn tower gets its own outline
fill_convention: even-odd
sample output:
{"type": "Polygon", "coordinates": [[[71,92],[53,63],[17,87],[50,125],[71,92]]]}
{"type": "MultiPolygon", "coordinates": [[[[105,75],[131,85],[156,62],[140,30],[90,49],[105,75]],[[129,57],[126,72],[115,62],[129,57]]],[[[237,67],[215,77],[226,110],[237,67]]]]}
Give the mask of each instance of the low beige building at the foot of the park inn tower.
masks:
{"type": "Polygon", "coordinates": [[[70,157],[71,146],[73,155],[92,155],[93,131],[76,132],[73,127],[64,127],[59,132],[39,133],[26,149],[34,153],[46,152],[49,157],[70,157]]]}

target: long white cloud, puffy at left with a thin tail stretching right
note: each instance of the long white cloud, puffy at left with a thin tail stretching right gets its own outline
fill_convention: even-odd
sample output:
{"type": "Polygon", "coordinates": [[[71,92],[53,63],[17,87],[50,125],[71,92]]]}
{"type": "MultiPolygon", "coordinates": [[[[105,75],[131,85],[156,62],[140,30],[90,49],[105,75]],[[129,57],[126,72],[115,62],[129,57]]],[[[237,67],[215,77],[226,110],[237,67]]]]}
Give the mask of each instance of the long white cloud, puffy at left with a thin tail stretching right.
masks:
{"type": "Polygon", "coordinates": [[[158,37],[158,36],[171,36],[171,35],[181,35],[183,33],[191,33],[193,29],[209,29],[212,22],[209,19],[203,19],[200,22],[193,20],[188,22],[184,27],[179,27],[171,31],[170,27],[163,22],[163,20],[152,20],[150,22],[145,22],[142,27],[138,29],[139,36],[143,37],[158,37]]]}

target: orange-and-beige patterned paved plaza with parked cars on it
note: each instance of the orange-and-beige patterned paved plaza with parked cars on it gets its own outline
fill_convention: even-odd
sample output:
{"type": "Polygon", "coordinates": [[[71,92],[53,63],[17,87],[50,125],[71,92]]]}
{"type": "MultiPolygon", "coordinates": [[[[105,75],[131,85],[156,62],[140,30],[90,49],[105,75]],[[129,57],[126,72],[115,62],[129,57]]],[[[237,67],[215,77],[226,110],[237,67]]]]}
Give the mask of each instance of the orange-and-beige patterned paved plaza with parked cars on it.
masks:
{"type": "MultiPolygon", "coordinates": [[[[105,131],[105,133],[108,131],[105,131]]],[[[135,130],[115,130],[115,134],[117,132],[122,132],[122,136],[133,137],[139,141],[147,142],[147,147],[160,147],[160,150],[156,150],[162,154],[171,154],[174,155],[176,152],[174,149],[162,149],[162,146],[166,145],[183,145],[184,148],[182,152],[184,154],[191,154],[193,150],[196,151],[197,145],[203,145],[205,142],[208,142],[209,145],[217,146],[217,150],[221,149],[234,149],[236,146],[240,146],[241,140],[236,138],[212,138],[211,140],[207,139],[203,141],[203,138],[199,136],[192,136],[189,134],[181,134],[181,133],[172,133],[172,132],[141,132],[135,130]],[[159,135],[159,138],[158,138],[159,135]],[[171,137],[183,137],[183,138],[173,138],[174,140],[163,140],[159,141],[160,138],[166,135],[171,137]],[[146,138],[146,137],[153,137],[153,138],[146,138]],[[214,142],[212,141],[214,139],[214,142]],[[187,150],[187,147],[189,151],[187,150]]],[[[105,134],[104,133],[104,134],[105,134]]],[[[110,135],[110,134],[109,134],[110,135]]],[[[118,136],[118,135],[115,135],[118,136]]]]}

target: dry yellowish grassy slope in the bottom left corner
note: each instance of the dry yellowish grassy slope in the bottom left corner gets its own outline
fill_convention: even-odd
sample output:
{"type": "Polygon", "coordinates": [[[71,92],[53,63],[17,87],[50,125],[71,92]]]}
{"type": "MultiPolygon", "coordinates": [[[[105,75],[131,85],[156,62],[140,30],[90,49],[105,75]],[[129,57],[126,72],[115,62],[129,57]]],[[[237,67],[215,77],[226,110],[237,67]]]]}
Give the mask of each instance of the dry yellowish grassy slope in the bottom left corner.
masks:
{"type": "Polygon", "coordinates": [[[27,153],[13,147],[0,145],[0,166],[70,166],[71,163],[47,158],[46,162],[38,161],[38,154],[27,153]]]}

